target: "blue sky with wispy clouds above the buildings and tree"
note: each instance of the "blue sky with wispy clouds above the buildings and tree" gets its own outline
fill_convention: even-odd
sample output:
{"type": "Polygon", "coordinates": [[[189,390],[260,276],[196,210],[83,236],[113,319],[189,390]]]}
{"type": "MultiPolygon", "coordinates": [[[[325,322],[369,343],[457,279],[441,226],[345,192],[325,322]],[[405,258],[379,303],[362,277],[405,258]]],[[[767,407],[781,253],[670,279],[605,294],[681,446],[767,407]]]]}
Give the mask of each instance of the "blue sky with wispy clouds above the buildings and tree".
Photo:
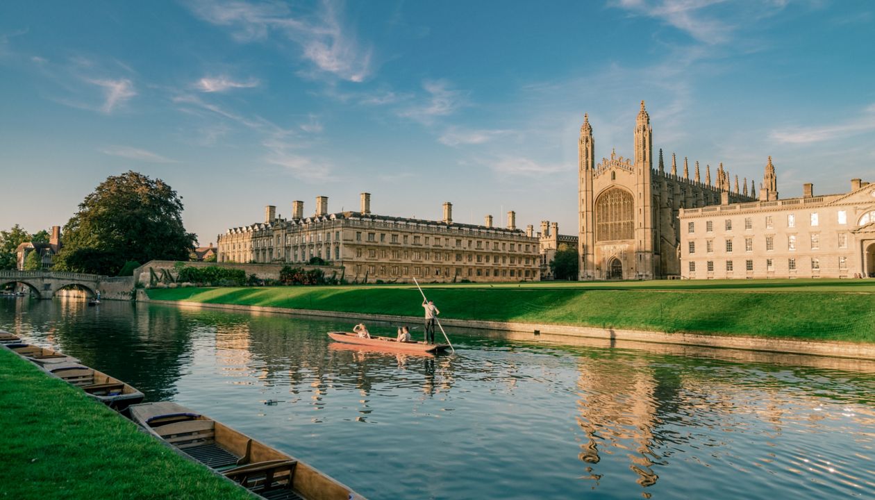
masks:
{"type": "Polygon", "coordinates": [[[574,235],[584,113],[596,158],[631,157],[642,100],[667,162],[759,186],[771,155],[782,198],[844,193],[875,181],[872,47],[851,0],[4,2],[0,229],[63,225],[133,170],[202,245],[362,192],[574,235]]]}

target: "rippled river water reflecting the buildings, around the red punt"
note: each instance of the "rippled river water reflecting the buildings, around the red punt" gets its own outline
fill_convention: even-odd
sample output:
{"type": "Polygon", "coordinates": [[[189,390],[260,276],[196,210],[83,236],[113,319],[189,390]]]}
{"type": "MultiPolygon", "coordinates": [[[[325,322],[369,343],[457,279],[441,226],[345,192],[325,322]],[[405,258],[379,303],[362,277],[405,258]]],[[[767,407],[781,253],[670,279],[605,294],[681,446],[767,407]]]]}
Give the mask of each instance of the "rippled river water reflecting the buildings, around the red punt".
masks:
{"type": "Polygon", "coordinates": [[[475,330],[423,357],[325,335],[354,322],[0,299],[0,329],[372,500],[875,495],[875,363],[475,330]]]}

